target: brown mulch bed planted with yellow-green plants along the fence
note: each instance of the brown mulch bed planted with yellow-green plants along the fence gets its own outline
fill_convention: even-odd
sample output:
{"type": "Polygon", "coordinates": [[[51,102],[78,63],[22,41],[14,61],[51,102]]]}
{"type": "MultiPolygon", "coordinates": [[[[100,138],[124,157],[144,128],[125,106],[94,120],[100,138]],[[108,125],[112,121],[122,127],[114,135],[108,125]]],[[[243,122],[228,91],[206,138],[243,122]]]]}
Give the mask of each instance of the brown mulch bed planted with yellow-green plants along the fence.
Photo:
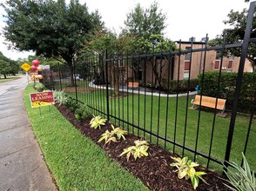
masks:
{"type": "MultiPolygon", "coordinates": [[[[159,148],[156,145],[149,144],[149,156],[142,157],[135,161],[133,157],[130,157],[130,160],[126,160],[126,156],[119,156],[124,148],[134,145],[134,141],[138,140],[139,137],[135,135],[125,135],[126,140],[122,140],[118,143],[111,142],[109,145],[104,145],[103,142],[98,142],[98,139],[105,132],[106,129],[111,130],[111,123],[106,122],[101,129],[91,128],[89,122],[91,117],[88,117],[84,122],[79,122],[74,117],[73,112],[65,106],[57,106],[57,109],[76,127],[80,132],[89,137],[93,142],[98,144],[100,148],[103,148],[106,152],[106,155],[109,155],[114,161],[126,168],[132,175],[138,177],[148,188],[151,190],[193,190],[191,181],[185,181],[185,179],[179,179],[176,168],[170,166],[172,163],[171,156],[178,156],[168,152],[163,148],[159,148]]],[[[226,181],[223,181],[224,178],[222,175],[219,175],[215,172],[207,170],[205,168],[196,168],[198,171],[204,171],[207,175],[204,175],[203,178],[207,182],[199,182],[199,187],[197,190],[229,190],[223,184],[226,181]],[[221,179],[222,178],[222,179],[221,179]]]]}

